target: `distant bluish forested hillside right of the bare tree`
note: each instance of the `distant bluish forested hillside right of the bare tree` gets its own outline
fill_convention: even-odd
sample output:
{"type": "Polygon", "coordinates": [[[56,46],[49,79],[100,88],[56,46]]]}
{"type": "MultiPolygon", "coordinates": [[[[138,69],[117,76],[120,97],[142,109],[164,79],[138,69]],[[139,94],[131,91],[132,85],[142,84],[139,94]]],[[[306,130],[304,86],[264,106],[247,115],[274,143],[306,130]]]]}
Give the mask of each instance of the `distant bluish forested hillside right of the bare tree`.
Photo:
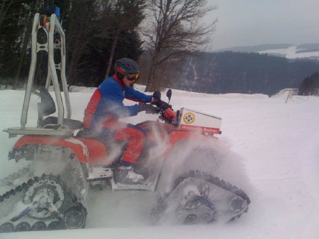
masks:
{"type": "Polygon", "coordinates": [[[227,51],[187,58],[177,69],[170,73],[173,88],[273,95],[284,88],[299,88],[306,77],[319,71],[319,61],[227,51]]]}

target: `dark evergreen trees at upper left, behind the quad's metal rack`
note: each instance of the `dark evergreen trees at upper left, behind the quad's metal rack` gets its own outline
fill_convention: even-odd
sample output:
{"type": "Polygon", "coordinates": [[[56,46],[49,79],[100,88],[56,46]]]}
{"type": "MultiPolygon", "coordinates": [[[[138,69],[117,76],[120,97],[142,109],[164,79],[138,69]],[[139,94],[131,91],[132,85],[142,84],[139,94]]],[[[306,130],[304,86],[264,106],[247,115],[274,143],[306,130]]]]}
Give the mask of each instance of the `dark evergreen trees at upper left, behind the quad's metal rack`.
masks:
{"type": "MultiPolygon", "coordinates": [[[[49,0],[0,1],[2,84],[18,87],[26,81],[33,17],[37,12],[46,14],[49,4],[49,0]]],[[[112,74],[108,65],[113,65],[116,59],[138,59],[142,54],[138,26],[145,17],[145,0],[55,0],[54,4],[60,8],[65,31],[70,85],[97,86],[106,75],[112,74]]],[[[38,32],[38,38],[45,43],[44,32],[38,32]]],[[[46,54],[44,51],[37,54],[35,84],[46,78],[46,54]]]]}

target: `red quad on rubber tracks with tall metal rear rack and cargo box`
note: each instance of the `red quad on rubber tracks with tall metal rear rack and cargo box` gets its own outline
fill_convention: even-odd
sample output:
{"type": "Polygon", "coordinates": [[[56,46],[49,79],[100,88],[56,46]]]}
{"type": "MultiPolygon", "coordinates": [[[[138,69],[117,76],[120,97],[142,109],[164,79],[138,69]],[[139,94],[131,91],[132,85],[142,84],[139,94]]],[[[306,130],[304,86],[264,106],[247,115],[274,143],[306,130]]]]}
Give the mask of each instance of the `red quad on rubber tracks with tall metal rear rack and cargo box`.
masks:
{"type": "MultiPolygon", "coordinates": [[[[170,101],[170,90],[166,96],[170,101]]],[[[114,152],[116,149],[122,151],[125,143],[115,142],[111,137],[110,142],[102,143],[82,129],[81,121],[71,119],[65,77],[64,32],[56,14],[45,19],[37,13],[32,29],[32,61],[21,126],[4,129],[9,137],[22,135],[9,153],[9,159],[16,162],[23,159],[31,164],[2,180],[14,187],[0,196],[0,231],[84,228],[87,216],[85,197],[91,182],[107,185],[112,191],[160,191],[151,212],[156,223],[166,220],[178,224],[232,221],[247,212],[250,199],[246,193],[210,173],[190,168],[178,173],[172,170],[169,177],[163,176],[162,172],[170,167],[167,159],[172,157],[176,145],[189,145],[194,141],[217,143],[214,135],[221,132],[221,119],[186,108],[174,112],[169,101],[161,100],[159,92],[154,97],[159,100],[156,105],[159,121],[138,124],[147,132],[147,143],[135,171],[143,174],[145,182],[116,182],[113,173],[119,159],[114,152]],[[48,36],[45,44],[37,42],[40,28],[48,36]],[[36,53],[40,50],[48,52],[48,75],[45,85],[34,90],[36,53]],[[61,53],[59,63],[55,62],[54,50],[61,53]],[[55,102],[48,92],[51,83],[55,102]],[[32,93],[40,97],[38,125],[26,127],[32,93]],[[57,117],[51,116],[56,111],[55,103],[57,117]]],[[[209,166],[212,165],[213,162],[209,166]]]]}

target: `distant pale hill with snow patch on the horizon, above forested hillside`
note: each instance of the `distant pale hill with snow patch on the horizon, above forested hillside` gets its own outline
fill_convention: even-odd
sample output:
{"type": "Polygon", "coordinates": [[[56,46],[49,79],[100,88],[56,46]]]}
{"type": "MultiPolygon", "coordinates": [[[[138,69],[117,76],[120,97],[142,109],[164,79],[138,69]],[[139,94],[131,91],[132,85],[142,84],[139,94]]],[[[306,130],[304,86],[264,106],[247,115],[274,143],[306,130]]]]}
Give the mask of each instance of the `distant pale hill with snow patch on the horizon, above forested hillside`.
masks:
{"type": "Polygon", "coordinates": [[[221,51],[258,52],[261,54],[285,56],[288,59],[308,58],[312,60],[319,60],[319,43],[301,45],[262,44],[256,46],[241,46],[216,50],[216,52],[221,51]]]}

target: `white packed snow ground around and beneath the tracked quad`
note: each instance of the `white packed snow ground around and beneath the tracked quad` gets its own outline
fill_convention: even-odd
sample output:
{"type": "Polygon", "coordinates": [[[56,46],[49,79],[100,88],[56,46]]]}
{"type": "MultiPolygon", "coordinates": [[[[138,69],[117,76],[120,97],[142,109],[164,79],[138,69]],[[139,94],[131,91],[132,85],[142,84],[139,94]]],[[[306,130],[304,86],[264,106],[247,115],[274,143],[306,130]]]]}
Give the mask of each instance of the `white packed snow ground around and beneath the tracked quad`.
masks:
{"type": "MultiPolygon", "coordinates": [[[[72,119],[82,119],[93,90],[70,93],[72,119]]],[[[260,94],[209,95],[173,90],[174,110],[187,107],[223,119],[218,137],[224,150],[231,150],[232,160],[236,160],[236,167],[229,165],[235,181],[228,181],[243,188],[252,201],[249,212],[239,220],[203,226],[154,226],[147,210],[153,203],[150,195],[91,191],[87,229],[9,233],[0,238],[318,239],[319,97],[292,96],[285,104],[287,94],[269,98],[260,94]]],[[[1,129],[19,126],[23,97],[23,91],[0,91],[1,129]]],[[[36,102],[38,98],[32,96],[28,126],[36,125],[36,102]]],[[[140,113],[126,121],[145,119],[156,116],[140,113]]],[[[6,159],[16,140],[0,132],[0,178],[19,166],[6,159]]]]}

